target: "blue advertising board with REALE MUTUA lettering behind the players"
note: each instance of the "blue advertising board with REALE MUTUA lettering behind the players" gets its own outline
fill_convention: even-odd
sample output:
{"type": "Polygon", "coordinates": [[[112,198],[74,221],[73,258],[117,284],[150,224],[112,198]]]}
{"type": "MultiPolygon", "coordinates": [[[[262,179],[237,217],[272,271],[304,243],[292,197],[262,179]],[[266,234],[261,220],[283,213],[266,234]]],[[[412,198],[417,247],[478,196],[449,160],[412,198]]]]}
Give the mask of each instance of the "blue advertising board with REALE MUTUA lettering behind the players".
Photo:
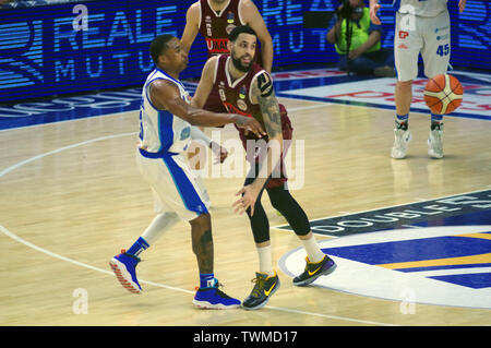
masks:
{"type": "MultiPolygon", "coordinates": [[[[133,87],[154,68],[148,53],[159,34],[182,35],[195,0],[93,0],[0,10],[0,103],[133,87]]],[[[303,13],[334,11],[337,0],[256,0],[271,32],[274,69],[335,63],[326,27],[306,28],[303,13]]],[[[454,3],[455,2],[455,3],[454,3]]],[[[450,1],[454,67],[489,69],[490,4],[467,1],[458,14],[450,1]],[[470,59],[471,57],[471,59],[470,59]]],[[[385,46],[394,37],[394,10],[384,4],[385,46]]],[[[199,77],[205,62],[199,36],[181,79],[199,77]]]]}

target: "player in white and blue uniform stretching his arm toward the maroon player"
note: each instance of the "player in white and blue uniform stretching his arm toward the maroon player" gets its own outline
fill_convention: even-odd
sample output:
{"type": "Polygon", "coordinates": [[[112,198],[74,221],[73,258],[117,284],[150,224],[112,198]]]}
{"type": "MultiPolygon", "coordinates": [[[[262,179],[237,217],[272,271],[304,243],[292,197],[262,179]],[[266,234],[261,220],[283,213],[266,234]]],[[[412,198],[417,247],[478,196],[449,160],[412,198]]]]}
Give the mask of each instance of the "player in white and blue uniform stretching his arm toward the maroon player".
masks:
{"type": "Polygon", "coordinates": [[[156,216],[143,235],[128,250],[110,261],[121,285],[133,293],[142,288],[135,266],[139,255],[179,220],[191,225],[192,250],[200,272],[200,288],[193,303],[200,308],[228,309],[240,301],[218,289],[214,276],[212,221],[209,200],[202,181],[190,169],[185,149],[191,139],[209,139],[196,127],[235,123],[262,136],[260,123],[239,115],[215,113],[192,107],[190,96],[179,81],[188,64],[188,55],[178,38],[159,35],[151,44],[156,69],[148,75],[142,92],[140,108],[140,146],[136,163],[152,188],[156,216]]]}

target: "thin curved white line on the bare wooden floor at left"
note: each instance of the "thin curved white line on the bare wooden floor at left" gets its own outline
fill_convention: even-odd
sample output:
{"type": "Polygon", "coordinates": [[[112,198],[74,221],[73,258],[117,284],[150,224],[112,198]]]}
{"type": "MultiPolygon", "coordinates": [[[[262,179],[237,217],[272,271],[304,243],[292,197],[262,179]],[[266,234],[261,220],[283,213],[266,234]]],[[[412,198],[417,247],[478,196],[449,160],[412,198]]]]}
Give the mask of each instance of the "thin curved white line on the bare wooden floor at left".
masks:
{"type": "MultiPolygon", "coordinates": [[[[13,171],[13,170],[15,170],[15,169],[26,165],[26,164],[29,164],[32,161],[35,161],[35,160],[40,159],[40,158],[46,157],[46,156],[50,156],[50,155],[53,155],[53,154],[61,153],[62,151],[65,151],[65,149],[75,148],[77,146],[95,143],[95,142],[103,141],[103,140],[115,139],[115,137],[122,137],[122,136],[128,136],[128,135],[133,135],[133,134],[135,134],[135,133],[131,132],[131,133],[122,133],[122,134],[116,134],[116,135],[100,136],[100,137],[96,137],[96,139],[93,139],[93,140],[88,140],[88,141],[84,141],[84,142],[81,142],[81,143],[76,143],[76,144],[73,144],[73,145],[68,145],[68,146],[64,146],[64,147],[60,147],[60,148],[57,148],[57,149],[53,149],[53,151],[50,151],[50,152],[47,152],[47,153],[34,156],[34,157],[27,158],[25,160],[20,161],[19,164],[15,164],[13,166],[10,166],[10,167],[1,170],[0,171],[0,178],[3,177],[7,173],[13,171]]],[[[13,240],[15,240],[17,242],[20,242],[20,243],[22,243],[22,244],[24,244],[24,245],[26,245],[28,248],[32,248],[32,249],[34,249],[36,251],[39,251],[41,253],[45,253],[45,254],[47,254],[47,255],[49,255],[51,257],[56,257],[56,259],[59,259],[61,261],[72,263],[72,264],[81,266],[81,267],[85,267],[85,268],[88,268],[88,269],[92,269],[92,271],[96,271],[96,272],[100,272],[100,273],[104,273],[104,274],[107,274],[107,275],[115,276],[111,271],[107,271],[107,269],[103,269],[103,268],[99,268],[99,267],[91,266],[91,265],[85,264],[83,262],[80,262],[80,261],[76,261],[76,260],[73,260],[73,259],[70,259],[70,257],[65,257],[65,256],[59,255],[59,254],[53,253],[53,252],[51,252],[49,250],[46,250],[46,249],[40,248],[40,247],[38,247],[36,244],[33,244],[33,243],[26,241],[25,239],[16,236],[15,233],[11,232],[9,229],[3,227],[2,225],[0,225],[0,231],[3,235],[5,235],[7,237],[12,238],[13,240]]],[[[142,284],[153,285],[153,286],[156,286],[156,287],[160,287],[160,288],[165,288],[165,289],[169,289],[169,290],[173,290],[173,291],[180,291],[180,292],[185,292],[185,293],[194,293],[193,291],[190,291],[190,290],[176,288],[176,287],[171,287],[171,286],[159,284],[159,283],[153,283],[153,281],[148,281],[148,280],[139,280],[139,281],[142,283],[142,284]]],[[[338,321],[345,321],[345,322],[352,322],[352,323],[359,323],[359,324],[380,325],[380,326],[395,326],[393,324],[379,323],[379,322],[372,322],[372,321],[363,321],[363,320],[358,320],[358,319],[352,319],[352,317],[345,317],[345,316],[337,316],[337,315],[330,315],[330,314],[322,314],[322,313],[314,313],[314,312],[306,312],[306,311],[299,311],[299,310],[282,308],[282,307],[270,307],[270,305],[266,305],[265,308],[268,308],[268,309],[275,310],[275,311],[289,312],[289,313],[296,313],[296,314],[302,314],[302,315],[312,315],[312,316],[319,316],[319,317],[331,319],[331,320],[338,320],[338,321]]]]}

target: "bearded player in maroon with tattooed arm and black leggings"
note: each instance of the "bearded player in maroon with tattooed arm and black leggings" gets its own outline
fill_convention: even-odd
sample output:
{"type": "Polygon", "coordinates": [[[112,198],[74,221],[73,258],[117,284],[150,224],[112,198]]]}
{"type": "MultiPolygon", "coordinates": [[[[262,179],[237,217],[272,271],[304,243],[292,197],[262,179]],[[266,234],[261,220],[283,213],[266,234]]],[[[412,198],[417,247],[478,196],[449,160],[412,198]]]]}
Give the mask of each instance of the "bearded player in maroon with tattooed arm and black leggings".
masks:
{"type": "Polygon", "coordinates": [[[287,151],[287,146],[284,148],[284,140],[291,140],[292,128],[286,109],[282,112],[279,108],[270,73],[254,62],[256,41],[256,34],[251,27],[233,28],[227,44],[230,55],[208,59],[191,101],[194,107],[203,106],[211,91],[215,88],[228,112],[253,117],[267,133],[264,137],[267,146],[261,146],[255,135],[239,130],[248,154],[247,159],[251,164],[251,172],[246,178],[243,188],[237,193],[241,199],[233,203],[233,206],[236,212],[247,212],[249,216],[260,261],[260,271],[253,279],[254,288],[242,302],[246,309],[251,310],[265,305],[279,287],[279,278],[272,262],[270,223],[261,204],[264,190],[273,207],[285,216],[306,248],[306,269],[294,278],[294,285],[306,286],[336,268],[333,260],[319,248],[310,230],[309,218],[287,189],[282,152],[287,151]],[[253,151],[248,148],[251,143],[253,151]],[[273,151],[274,146],[278,146],[279,151],[273,151]],[[280,169],[276,170],[277,168],[280,169]]]}

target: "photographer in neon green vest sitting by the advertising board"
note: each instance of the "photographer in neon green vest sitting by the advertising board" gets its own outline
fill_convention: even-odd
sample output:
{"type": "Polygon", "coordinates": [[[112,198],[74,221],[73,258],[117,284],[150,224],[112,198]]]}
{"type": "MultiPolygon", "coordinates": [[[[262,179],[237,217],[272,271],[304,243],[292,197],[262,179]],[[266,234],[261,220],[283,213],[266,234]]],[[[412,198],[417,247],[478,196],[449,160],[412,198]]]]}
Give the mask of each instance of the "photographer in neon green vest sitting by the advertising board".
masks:
{"type": "Polygon", "coordinates": [[[383,28],[370,21],[370,10],[363,0],[342,2],[326,35],[339,55],[339,70],[361,75],[395,76],[393,50],[382,47],[383,28]]]}

